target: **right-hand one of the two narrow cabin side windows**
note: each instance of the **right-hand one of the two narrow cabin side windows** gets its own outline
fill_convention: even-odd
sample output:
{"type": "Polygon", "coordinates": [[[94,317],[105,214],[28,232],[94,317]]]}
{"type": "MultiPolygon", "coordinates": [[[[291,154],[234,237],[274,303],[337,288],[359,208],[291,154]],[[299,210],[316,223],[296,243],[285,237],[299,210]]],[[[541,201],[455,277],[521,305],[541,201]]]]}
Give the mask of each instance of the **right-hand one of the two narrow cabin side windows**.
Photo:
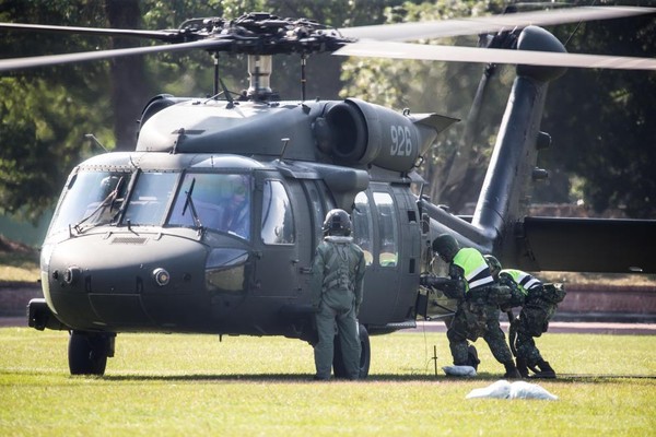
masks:
{"type": "Polygon", "coordinates": [[[396,267],[399,256],[399,237],[394,198],[388,192],[375,191],[373,194],[378,220],[378,263],[382,267],[396,267]]]}

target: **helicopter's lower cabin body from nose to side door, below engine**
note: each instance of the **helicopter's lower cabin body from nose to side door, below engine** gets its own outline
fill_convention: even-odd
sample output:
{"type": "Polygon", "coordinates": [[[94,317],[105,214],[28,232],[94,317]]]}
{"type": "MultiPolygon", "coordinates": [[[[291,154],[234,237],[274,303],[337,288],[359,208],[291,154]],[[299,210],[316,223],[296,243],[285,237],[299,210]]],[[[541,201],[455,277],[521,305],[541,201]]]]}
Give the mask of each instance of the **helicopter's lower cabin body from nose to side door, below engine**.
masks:
{"type": "MultiPolygon", "coordinates": [[[[69,179],[44,245],[46,299],[82,331],[305,338],[312,257],[336,208],[320,177],[329,168],[236,155],[94,157],[69,179]],[[237,232],[214,220],[241,187],[231,184],[247,190],[237,232]]],[[[367,185],[355,188],[352,214],[367,256],[361,322],[375,329],[414,318],[422,236],[409,179],[367,185]]]]}

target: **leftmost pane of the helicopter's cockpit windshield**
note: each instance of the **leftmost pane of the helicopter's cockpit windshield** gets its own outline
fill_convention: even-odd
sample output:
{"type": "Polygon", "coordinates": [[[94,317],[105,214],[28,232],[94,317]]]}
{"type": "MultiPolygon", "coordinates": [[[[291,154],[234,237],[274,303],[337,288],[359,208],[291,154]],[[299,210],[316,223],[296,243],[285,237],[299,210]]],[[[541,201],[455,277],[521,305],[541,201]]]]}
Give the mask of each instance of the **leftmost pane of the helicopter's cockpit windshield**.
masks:
{"type": "Polygon", "coordinates": [[[49,234],[115,223],[126,197],[129,173],[79,172],[71,176],[49,234]]]}

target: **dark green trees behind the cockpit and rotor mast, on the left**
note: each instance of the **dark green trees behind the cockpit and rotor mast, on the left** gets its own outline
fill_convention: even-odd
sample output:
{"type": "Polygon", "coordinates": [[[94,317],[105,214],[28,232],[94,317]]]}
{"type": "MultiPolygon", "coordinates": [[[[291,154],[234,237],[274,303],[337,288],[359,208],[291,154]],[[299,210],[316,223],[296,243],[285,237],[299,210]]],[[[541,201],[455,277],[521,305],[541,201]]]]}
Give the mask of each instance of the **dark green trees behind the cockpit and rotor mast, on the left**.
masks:
{"type": "MultiPolygon", "coordinates": [[[[116,28],[175,28],[190,17],[237,17],[253,11],[281,16],[307,16],[335,25],[371,24],[386,4],[399,1],[355,2],[282,0],[0,0],[0,21],[116,28]]],[[[3,32],[0,57],[67,54],[131,47],[134,38],[3,32]]],[[[308,95],[329,97],[340,88],[336,80],[341,60],[320,58],[309,63],[308,95]]],[[[94,133],[108,149],[131,150],[137,123],[148,97],[159,93],[207,95],[213,70],[204,51],[117,58],[17,71],[0,76],[0,213],[36,221],[51,208],[71,168],[99,152],[84,140],[94,133]]],[[[286,98],[298,98],[300,62],[277,60],[278,84],[286,98]],[[296,75],[298,78],[298,75],[296,75]]],[[[229,88],[247,86],[245,59],[225,56],[221,74],[229,88]]]]}

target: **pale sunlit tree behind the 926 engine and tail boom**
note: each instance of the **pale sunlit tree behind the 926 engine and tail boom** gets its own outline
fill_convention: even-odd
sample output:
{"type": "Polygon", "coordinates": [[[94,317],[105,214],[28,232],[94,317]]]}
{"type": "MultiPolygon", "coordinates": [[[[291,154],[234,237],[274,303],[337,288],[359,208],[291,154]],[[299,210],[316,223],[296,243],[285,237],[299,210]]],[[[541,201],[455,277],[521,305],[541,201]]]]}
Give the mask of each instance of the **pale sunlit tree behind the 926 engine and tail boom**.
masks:
{"type": "MultiPolygon", "coordinates": [[[[489,8],[499,12],[494,3],[488,1],[405,2],[401,7],[389,8],[386,16],[388,23],[447,20],[487,14],[491,12],[489,8]]],[[[438,43],[476,45],[477,39],[465,37],[438,43]]],[[[458,212],[467,202],[477,199],[490,156],[490,143],[513,79],[506,74],[507,69],[497,70],[477,128],[472,129],[478,134],[465,143],[461,139],[466,120],[482,72],[483,67],[472,63],[352,59],[343,66],[342,80],[348,85],[341,95],[356,95],[396,109],[407,107],[413,113],[438,113],[462,120],[438,137],[420,167],[427,181],[425,193],[434,202],[446,203],[458,212]]]]}

